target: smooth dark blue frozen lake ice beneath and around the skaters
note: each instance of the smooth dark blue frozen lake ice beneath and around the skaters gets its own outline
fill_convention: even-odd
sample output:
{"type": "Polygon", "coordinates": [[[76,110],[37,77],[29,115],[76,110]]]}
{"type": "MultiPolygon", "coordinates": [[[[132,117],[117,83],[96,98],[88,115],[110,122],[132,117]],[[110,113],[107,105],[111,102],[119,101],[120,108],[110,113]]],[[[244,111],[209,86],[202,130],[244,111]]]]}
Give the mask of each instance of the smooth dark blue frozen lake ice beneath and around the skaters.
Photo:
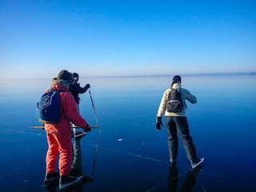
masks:
{"type": "MultiPolygon", "coordinates": [[[[155,129],[171,78],[80,79],[90,83],[101,134],[94,129],[81,139],[82,170],[94,180],[71,191],[256,191],[256,76],[182,77],[182,86],[198,98],[195,105],[187,102],[190,134],[198,156],[206,159],[198,177],[190,173],[182,142],[177,170],[169,169],[166,129],[155,129]]],[[[47,191],[46,135],[29,126],[41,126],[35,104],[50,79],[0,86],[0,189],[47,191]]],[[[81,98],[82,117],[96,126],[90,94],[81,98]]]]}

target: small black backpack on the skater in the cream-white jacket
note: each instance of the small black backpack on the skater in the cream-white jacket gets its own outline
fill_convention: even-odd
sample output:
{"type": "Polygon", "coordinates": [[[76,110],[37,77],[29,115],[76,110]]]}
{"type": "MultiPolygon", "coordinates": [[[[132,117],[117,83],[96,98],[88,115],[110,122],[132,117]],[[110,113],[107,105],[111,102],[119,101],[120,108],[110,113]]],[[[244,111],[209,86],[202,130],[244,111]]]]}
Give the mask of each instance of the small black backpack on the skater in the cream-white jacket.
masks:
{"type": "Polygon", "coordinates": [[[180,113],[183,109],[182,94],[179,90],[170,89],[166,110],[172,113],[180,113]]]}

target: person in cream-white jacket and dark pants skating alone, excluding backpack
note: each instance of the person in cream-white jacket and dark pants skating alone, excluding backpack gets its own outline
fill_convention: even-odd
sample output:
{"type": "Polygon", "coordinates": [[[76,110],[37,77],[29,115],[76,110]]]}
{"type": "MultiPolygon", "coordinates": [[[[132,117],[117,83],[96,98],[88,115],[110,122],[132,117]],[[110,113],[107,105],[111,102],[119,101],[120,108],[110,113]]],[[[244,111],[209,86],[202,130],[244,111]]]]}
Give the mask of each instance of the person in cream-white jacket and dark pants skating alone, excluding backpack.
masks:
{"type": "Polygon", "coordinates": [[[162,95],[162,100],[160,102],[160,106],[158,107],[156,128],[161,130],[161,126],[163,126],[162,115],[165,114],[170,154],[170,166],[176,165],[176,158],[178,156],[178,131],[178,134],[182,140],[182,144],[186,150],[186,156],[190,160],[190,164],[194,169],[202,164],[204,158],[198,158],[194,142],[190,136],[189,124],[186,118],[186,100],[191,103],[196,103],[197,98],[193,94],[190,94],[189,90],[183,89],[181,82],[182,78],[179,75],[175,75],[170,88],[167,89],[162,95]],[[181,112],[169,112],[166,109],[168,95],[170,94],[171,89],[180,91],[182,95],[183,108],[181,112]]]}

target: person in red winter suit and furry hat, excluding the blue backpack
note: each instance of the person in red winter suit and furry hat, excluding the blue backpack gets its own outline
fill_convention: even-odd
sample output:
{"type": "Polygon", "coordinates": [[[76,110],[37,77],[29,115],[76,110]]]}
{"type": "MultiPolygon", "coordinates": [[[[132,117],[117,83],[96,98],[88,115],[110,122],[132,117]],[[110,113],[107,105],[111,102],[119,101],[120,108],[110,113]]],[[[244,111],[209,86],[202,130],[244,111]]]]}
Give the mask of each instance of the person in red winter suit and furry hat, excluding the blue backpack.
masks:
{"type": "MultiPolygon", "coordinates": [[[[62,177],[69,177],[73,153],[70,122],[74,123],[75,126],[82,127],[86,132],[90,131],[90,126],[78,113],[77,104],[72,95],[68,92],[70,82],[72,82],[72,76],[66,70],[62,70],[58,74],[58,78],[54,78],[52,81],[51,89],[61,90],[58,94],[60,96],[60,111],[62,117],[58,123],[44,125],[48,142],[48,150],[46,153],[46,180],[54,177],[54,174],[57,173],[56,161],[58,154],[60,179],[62,179],[62,177]]],[[[49,91],[50,90],[46,90],[46,92],[49,91]]]]}

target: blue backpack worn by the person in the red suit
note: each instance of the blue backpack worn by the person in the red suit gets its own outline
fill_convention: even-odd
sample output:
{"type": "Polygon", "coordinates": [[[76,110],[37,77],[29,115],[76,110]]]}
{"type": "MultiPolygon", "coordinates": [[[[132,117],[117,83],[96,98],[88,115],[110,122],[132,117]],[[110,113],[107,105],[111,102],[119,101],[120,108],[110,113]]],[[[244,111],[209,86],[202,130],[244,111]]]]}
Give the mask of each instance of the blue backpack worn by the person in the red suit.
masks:
{"type": "Polygon", "coordinates": [[[57,123],[61,118],[59,91],[63,90],[52,89],[40,98],[36,107],[36,115],[39,122],[53,124],[57,123]]]}

